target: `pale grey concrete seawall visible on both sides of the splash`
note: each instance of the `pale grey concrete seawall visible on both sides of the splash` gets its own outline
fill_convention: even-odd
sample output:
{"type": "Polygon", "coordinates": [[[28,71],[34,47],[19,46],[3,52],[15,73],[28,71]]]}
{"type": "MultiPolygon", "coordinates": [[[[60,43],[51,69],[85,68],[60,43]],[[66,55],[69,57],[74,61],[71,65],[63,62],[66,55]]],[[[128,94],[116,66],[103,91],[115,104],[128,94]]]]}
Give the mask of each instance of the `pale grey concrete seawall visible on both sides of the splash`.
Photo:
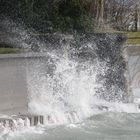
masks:
{"type": "MultiPolygon", "coordinates": [[[[127,47],[127,55],[130,86],[133,92],[138,93],[140,91],[140,46],[127,47]]],[[[0,114],[29,113],[27,71],[29,72],[30,68],[33,69],[32,64],[39,63],[40,58],[44,56],[45,54],[40,53],[0,55],[0,114]]],[[[47,69],[48,66],[45,67],[47,69]]]]}

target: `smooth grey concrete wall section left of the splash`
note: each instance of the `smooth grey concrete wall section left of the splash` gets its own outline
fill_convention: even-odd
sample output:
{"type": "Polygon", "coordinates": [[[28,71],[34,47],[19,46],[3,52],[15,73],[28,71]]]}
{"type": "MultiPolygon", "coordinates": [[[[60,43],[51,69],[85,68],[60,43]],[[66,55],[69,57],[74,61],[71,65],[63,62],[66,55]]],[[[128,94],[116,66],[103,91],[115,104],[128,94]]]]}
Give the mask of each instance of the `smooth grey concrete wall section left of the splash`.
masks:
{"type": "Polygon", "coordinates": [[[28,113],[27,65],[42,56],[0,54],[0,114],[28,113]]]}

